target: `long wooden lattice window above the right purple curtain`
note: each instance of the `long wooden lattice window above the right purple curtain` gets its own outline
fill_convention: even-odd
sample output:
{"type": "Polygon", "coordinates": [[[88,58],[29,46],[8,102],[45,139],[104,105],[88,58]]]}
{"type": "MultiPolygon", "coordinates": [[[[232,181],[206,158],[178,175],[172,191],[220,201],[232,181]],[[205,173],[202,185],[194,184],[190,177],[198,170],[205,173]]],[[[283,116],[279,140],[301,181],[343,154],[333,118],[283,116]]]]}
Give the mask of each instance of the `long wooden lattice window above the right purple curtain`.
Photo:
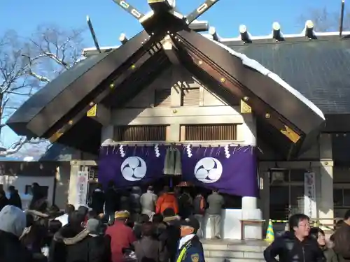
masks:
{"type": "Polygon", "coordinates": [[[237,124],[190,124],[181,126],[182,141],[237,140],[237,124]]]}

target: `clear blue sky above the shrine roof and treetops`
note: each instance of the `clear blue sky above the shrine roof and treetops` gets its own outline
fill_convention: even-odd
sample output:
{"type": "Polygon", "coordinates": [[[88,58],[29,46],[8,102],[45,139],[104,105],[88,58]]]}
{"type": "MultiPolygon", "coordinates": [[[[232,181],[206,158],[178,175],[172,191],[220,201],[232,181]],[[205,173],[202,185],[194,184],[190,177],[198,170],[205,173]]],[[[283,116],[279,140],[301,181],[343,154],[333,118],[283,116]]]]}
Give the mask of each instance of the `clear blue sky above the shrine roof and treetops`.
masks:
{"type": "MultiPolygon", "coordinates": [[[[203,0],[176,0],[181,13],[187,14],[203,0]]],[[[147,0],[128,0],[141,12],[149,10],[147,0]]],[[[238,36],[239,24],[245,24],[253,35],[267,35],[272,23],[279,22],[284,34],[299,33],[300,15],[307,17],[310,8],[327,7],[338,12],[341,0],[220,0],[200,20],[208,20],[221,37],[238,36]]],[[[13,29],[22,36],[30,36],[38,24],[58,24],[64,28],[87,27],[90,15],[99,45],[119,45],[121,33],[131,37],[141,26],[131,15],[121,10],[112,0],[1,0],[0,35],[13,29]]],[[[90,33],[85,33],[85,45],[93,46],[90,33]]],[[[13,140],[9,131],[2,132],[2,140],[13,140]]],[[[6,144],[8,144],[8,142],[6,144]]]]}

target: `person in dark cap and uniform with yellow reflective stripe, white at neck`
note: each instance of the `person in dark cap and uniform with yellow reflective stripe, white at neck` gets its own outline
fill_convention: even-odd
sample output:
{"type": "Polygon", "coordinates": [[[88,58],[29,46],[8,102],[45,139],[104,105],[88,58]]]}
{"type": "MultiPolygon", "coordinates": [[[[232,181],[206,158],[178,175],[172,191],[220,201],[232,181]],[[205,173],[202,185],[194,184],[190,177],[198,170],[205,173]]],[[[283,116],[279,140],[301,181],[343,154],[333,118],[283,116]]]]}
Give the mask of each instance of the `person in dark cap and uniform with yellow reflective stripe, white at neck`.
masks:
{"type": "Polygon", "coordinates": [[[205,262],[204,251],[197,231],[200,222],[195,217],[181,221],[181,239],[176,254],[176,262],[205,262]]]}

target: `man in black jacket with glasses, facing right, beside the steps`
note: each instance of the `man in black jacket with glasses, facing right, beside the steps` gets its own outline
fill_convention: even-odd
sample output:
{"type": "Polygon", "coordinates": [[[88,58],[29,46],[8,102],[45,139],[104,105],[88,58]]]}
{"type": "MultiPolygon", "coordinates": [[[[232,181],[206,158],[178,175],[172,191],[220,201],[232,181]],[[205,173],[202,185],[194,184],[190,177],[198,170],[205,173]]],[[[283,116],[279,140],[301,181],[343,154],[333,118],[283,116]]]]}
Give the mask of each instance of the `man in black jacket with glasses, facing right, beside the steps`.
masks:
{"type": "Polygon", "coordinates": [[[264,251],[267,262],[325,262],[318,243],[309,237],[309,217],[293,214],[289,218],[289,231],[276,238],[264,251]],[[279,256],[279,260],[276,260],[279,256]]]}

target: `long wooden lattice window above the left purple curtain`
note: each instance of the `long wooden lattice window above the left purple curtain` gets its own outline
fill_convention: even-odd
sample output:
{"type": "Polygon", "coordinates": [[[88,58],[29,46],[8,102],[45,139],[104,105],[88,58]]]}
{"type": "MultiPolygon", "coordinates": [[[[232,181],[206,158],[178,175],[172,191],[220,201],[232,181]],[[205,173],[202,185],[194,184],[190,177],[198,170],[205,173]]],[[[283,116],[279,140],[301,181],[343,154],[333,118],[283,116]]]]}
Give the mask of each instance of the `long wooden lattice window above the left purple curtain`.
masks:
{"type": "Polygon", "coordinates": [[[165,141],[167,140],[166,125],[147,126],[115,126],[115,141],[165,141]]]}

